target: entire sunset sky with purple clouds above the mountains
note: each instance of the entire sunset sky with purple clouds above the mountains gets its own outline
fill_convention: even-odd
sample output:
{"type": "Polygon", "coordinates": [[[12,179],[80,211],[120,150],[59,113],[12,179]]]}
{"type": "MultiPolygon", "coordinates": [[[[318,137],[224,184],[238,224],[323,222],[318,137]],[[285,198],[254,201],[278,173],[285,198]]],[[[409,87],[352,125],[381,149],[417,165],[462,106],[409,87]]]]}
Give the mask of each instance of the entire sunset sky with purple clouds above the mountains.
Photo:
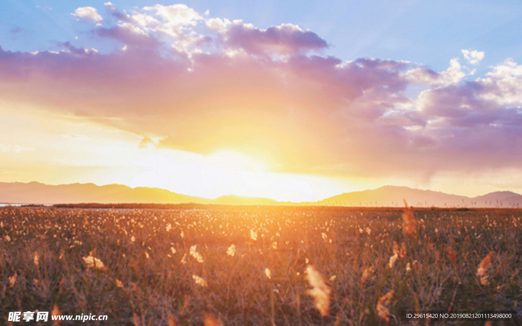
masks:
{"type": "Polygon", "coordinates": [[[519,1],[0,9],[0,182],[522,192],[519,1]]]}

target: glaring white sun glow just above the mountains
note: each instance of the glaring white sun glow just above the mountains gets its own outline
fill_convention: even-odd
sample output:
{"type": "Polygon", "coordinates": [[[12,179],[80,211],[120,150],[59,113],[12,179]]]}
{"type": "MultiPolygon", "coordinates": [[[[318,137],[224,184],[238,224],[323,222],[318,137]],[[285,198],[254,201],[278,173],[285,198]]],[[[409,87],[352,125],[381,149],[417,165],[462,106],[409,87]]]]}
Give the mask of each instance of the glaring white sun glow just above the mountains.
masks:
{"type": "Polygon", "coordinates": [[[339,194],[346,184],[323,176],[277,173],[269,160],[220,149],[195,154],[150,148],[126,169],[132,187],[163,188],[178,194],[217,198],[225,195],[279,201],[314,201],[339,194]]]}

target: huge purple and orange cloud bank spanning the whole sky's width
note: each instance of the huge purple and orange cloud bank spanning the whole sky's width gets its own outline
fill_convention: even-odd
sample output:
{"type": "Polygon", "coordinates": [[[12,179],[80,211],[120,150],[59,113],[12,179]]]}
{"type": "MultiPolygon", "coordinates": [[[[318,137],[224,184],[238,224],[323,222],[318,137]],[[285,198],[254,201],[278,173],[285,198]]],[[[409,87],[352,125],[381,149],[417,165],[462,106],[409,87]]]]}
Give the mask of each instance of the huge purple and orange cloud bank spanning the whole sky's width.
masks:
{"type": "Polygon", "coordinates": [[[132,132],[141,147],[233,149],[280,171],[426,175],[520,162],[522,67],[513,59],[471,80],[458,58],[444,71],[345,61],[321,55],[327,42],[295,25],[105,5],[116,21],[92,36],[120,50],[0,48],[0,96],[132,132]]]}

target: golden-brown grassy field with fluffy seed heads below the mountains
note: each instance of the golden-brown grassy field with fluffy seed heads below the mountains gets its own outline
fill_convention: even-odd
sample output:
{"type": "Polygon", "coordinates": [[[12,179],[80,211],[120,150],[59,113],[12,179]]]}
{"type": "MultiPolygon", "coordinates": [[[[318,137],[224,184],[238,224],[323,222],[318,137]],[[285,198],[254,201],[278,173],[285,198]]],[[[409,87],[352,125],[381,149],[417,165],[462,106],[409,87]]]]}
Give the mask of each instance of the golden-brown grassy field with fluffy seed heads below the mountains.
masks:
{"type": "Polygon", "coordinates": [[[0,324],[37,309],[100,325],[520,322],[521,269],[520,210],[0,209],[0,324]]]}

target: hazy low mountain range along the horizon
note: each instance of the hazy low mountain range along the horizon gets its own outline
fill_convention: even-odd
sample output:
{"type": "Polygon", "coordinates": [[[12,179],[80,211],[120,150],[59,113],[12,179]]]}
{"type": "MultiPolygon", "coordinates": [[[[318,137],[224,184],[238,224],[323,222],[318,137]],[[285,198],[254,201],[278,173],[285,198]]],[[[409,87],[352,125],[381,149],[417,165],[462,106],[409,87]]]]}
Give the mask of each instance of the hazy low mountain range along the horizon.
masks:
{"type": "Polygon", "coordinates": [[[477,197],[445,194],[444,192],[384,186],[372,190],[346,192],[315,202],[280,202],[267,198],[221,196],[208,199],[176,194],[160,189],[124,185],[95,184],[46,185],[38,182],[0,182],[0,203],[203,203],[255,205],[325,205],[352,207],[402,207],[404,200],[414,207],[519,208],[522,195],[512,191],[496,191],[477,197]]]}

